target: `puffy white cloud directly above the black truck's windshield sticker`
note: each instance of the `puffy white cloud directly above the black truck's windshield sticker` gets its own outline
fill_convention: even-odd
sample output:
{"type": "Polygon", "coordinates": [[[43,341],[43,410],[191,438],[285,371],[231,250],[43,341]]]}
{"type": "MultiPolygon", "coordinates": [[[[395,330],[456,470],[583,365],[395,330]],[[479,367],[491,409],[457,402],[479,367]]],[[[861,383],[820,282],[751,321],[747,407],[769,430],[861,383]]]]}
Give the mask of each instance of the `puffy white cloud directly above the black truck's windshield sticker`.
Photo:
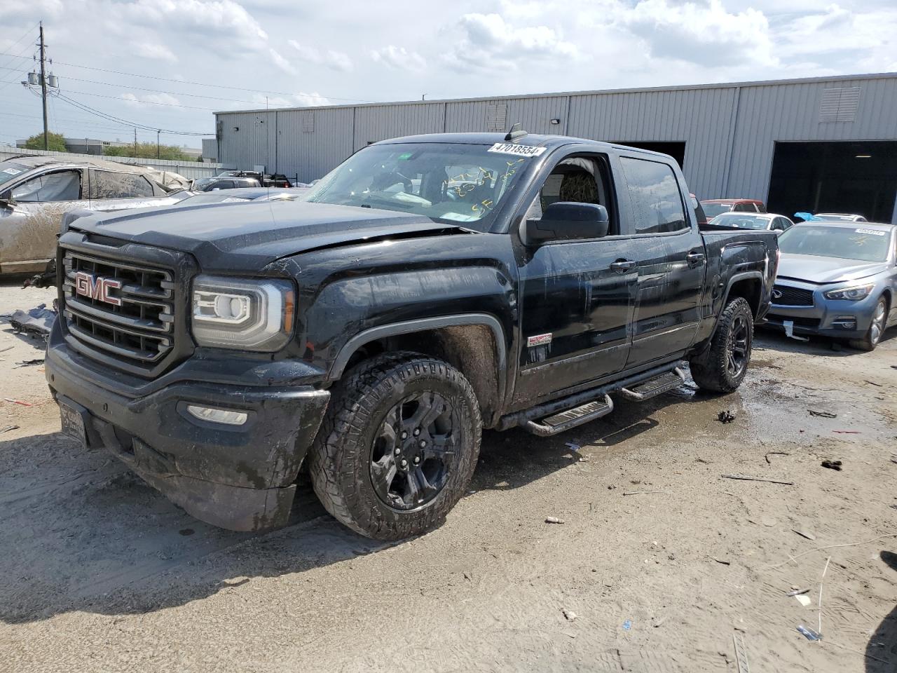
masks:
{"type": "Polygon", "coordinates": [[[468,13],[457,22],[462,38],[448,60],[466,66],[494,70],[517,69],[524,59],[574,58],[579,48],[561,39],[547,25],[514,26],[501,14],[468,13]]]}

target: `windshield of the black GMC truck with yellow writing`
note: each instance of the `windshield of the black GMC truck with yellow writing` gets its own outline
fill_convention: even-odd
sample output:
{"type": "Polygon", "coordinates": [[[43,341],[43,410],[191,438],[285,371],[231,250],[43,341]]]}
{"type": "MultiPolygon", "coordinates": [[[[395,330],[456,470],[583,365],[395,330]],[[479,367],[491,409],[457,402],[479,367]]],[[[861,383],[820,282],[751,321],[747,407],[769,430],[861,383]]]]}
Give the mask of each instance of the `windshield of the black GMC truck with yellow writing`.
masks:
{"type": "Polygon", "coordinates": [[[501,143],[371,145],[328,173],[303,200],[421,214],[484,232],[527,162],[542,152],[501,143]],[[515,147],[530,155],[514,153],[515,147]]]}

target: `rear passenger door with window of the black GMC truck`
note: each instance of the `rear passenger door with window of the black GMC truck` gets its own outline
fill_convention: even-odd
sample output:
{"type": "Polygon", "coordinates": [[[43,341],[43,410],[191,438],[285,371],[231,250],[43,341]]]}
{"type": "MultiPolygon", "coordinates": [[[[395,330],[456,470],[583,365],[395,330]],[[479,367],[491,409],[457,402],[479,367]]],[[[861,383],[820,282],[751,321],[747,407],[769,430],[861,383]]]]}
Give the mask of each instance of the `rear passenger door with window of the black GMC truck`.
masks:
{"type": "Polygon", "coordinates": [[[619,161],[623,232],[631,235],[638,273],[628,369],[692,345],[707,256],[678,168],[640,153],[621,152],[619,161]]]}

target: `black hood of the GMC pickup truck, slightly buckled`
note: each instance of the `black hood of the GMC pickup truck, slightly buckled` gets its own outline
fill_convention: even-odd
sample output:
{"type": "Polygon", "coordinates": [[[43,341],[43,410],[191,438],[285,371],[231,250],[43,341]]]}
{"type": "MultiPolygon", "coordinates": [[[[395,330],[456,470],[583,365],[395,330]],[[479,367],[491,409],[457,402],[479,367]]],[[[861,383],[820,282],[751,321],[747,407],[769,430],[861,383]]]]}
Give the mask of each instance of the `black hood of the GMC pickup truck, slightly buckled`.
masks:
{"type": "Polygon", "coordinates": [[[71,228],[189,252],[205,269],[254,270],[300,252],[363,240],[470,233],[418,214],[304,201],[141,208],[83,217],[71,228]]]}

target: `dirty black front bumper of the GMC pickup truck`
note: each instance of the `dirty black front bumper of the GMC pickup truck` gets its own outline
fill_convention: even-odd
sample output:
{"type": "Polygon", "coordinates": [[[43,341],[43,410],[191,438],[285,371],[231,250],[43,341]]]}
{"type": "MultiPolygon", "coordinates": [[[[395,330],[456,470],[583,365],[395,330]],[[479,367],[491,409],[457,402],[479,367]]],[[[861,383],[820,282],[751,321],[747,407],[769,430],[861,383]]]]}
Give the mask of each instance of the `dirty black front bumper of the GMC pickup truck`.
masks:
{"type": "MultiPolygon", "coordinates": [[[[58,320],[57,320],[58,323],[58,320]]],[[[170,380],[139,397],[85,366],[55,326],[46,358],[57,401],[78,411],[88,444],[105,447],[196,519],[232,530],[282,526],[329,393],[311,385],[170,380]],[[195,418],[187,404],[242,411],[242,425],[195,418]]],[[[294,363],[284,367],[294,368],[294,363]]]]}

